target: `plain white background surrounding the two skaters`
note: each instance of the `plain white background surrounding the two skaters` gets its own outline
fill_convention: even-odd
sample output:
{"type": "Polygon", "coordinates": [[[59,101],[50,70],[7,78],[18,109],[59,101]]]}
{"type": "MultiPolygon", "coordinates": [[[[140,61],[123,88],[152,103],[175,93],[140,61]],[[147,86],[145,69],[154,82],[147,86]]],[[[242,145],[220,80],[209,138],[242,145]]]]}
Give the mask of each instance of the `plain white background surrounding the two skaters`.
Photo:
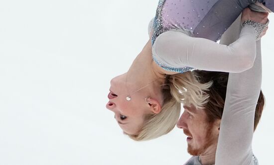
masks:
{"type": "MultiPolygon", "coordinates": [[[[0,165],[182,165],[190,158],[181,130],[134,142],[105,108],[111,78],[128,70],[148,39],[157,2],[0,1],[0,165]]],[[[253,142],[260,165],[273,162],[274,149],[269,26],[267,104],[253,142]]]]}

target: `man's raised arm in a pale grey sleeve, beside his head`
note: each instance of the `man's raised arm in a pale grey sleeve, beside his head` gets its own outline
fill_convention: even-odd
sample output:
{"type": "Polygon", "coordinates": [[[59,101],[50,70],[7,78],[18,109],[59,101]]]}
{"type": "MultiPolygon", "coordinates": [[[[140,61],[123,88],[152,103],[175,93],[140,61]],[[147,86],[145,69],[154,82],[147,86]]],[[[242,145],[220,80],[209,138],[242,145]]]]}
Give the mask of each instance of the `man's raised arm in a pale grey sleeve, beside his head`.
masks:
{"type": "MultiPolygon", "coordinates": [[[[239,36],[238,27],[227,31],[222,43],[239,36]],[[238,36],[237,36],[238,34],[238,36]]],[[[256,59],[251,69],[230,73],[224,112],[221,120],[215,165],[254,165],[252,138],[254,117],[262,82],[261,40],[255,48],[256,59]]]]}

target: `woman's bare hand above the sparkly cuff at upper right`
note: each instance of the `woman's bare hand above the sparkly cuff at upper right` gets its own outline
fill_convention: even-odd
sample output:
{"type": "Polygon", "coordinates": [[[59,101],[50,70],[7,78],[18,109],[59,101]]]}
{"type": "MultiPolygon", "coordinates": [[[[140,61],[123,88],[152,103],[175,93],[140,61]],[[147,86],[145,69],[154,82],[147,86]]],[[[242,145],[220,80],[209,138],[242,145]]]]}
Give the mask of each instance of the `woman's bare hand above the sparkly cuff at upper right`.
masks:
{"type": "Polygon", "coordinates": [[[250,8],[245,8],[242,12],[241,22],[253,20],[258,23],[266,24],[268,22],[268,12],[252,11],[250,8]]]}

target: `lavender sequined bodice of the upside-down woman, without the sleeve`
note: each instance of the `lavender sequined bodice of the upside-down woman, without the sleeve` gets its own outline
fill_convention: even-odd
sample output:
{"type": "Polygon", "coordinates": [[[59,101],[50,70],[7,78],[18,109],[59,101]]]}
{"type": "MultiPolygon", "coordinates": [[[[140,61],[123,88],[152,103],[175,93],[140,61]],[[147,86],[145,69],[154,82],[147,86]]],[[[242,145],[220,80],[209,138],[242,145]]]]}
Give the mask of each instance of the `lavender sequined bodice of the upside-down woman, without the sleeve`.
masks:
{"type": "Polygon", "coordinates": [[[217,41],[240,15],[257,0],[159,0],[153,22],[152,44],[170,29],[193,37],[217,41]]]}

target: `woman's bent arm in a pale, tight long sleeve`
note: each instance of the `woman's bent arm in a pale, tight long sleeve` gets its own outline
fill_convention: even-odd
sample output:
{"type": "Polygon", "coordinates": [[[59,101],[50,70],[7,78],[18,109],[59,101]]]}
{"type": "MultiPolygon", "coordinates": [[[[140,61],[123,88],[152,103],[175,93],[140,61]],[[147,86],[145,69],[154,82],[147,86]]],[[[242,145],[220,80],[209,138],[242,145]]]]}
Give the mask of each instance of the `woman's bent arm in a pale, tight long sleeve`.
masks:
{"type": "Polygon", "coordinates": [[[170,67],[189,66],[234,73],[250,69],[255,52],[255,28],[252,26],[245,26],[240,38],[228,46],[209,39],[190,37],[174,29],[160,34],[152,47],[153,56],[170,67]]]}

